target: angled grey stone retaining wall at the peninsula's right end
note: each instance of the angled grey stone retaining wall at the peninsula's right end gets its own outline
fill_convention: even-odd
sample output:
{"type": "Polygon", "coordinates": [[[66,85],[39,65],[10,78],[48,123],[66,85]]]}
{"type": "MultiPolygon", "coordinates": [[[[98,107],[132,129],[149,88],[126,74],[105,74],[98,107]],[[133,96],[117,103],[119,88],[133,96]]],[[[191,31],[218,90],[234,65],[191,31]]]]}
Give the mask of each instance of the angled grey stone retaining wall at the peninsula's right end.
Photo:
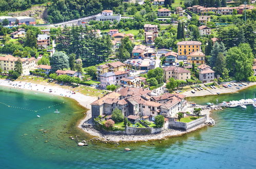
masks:
{"type": "Polygon", "coordinates": [[[206,121],[206,116],[203,116],[199,119],[190,121],[190,122],[180,122],[180,121],[169,121],[169,128],[170,129],[183,129],[189,130],[194,128],[195,126],[201,125],[206,121]]]}

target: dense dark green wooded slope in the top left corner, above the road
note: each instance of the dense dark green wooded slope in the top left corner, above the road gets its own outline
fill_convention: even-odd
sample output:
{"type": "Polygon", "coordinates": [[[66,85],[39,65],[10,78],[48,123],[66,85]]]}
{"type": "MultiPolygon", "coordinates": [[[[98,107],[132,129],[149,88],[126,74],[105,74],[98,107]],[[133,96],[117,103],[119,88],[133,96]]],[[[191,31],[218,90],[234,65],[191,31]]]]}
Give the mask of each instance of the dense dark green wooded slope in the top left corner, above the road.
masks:
{"type": "Polygon", "coordinates": [[[47,3],[50,23],[62,22],[91,14],[100,13],[103,9],[112,9],[123,4],[122,0],[0,0],[0,12],[20,11],[32,5],[47,3]]]}

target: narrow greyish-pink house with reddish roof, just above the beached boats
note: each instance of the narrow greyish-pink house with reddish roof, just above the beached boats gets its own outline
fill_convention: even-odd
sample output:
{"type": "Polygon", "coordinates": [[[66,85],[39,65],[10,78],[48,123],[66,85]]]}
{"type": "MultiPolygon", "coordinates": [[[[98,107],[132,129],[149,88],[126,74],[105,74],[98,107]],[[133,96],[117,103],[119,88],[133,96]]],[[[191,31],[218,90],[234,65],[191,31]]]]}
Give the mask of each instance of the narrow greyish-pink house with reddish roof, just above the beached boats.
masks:
{"type": "Polygon", "coordinates": [[[199,80],[203,83],[208,83],[214,81],[214,71],[208,65],[200,65],[199,69],[199,80]]]}

